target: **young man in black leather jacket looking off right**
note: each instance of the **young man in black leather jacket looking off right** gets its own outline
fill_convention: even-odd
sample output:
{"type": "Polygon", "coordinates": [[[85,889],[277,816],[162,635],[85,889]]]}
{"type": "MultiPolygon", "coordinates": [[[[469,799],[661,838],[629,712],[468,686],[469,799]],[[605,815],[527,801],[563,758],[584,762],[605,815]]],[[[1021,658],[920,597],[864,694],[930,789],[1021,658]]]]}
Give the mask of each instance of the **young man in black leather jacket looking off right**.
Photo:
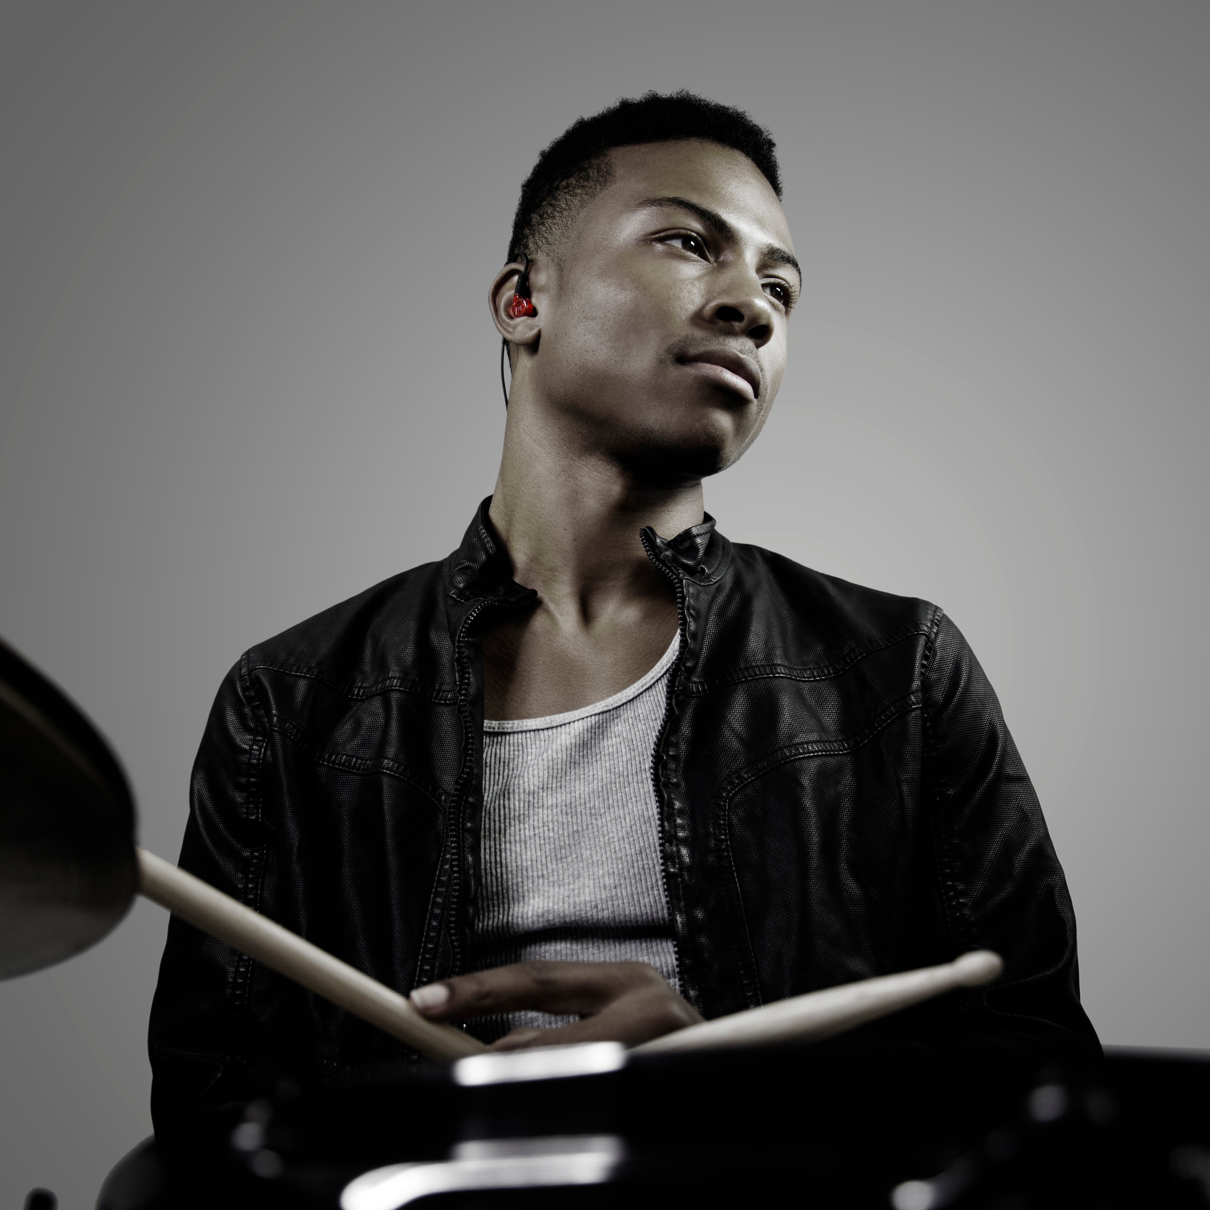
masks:
{"type": "MultiPolygon", "coordinates": [[[[768,136],[685,93],[542,154],[490,289],[495,492],[445,560],[243,656],[182,865],[501,1045],[636,1042],[983,946],[998,984],[897,1027],[1095,1045],[1062,871],[962,635],[703,512],[785,368],[779,197],[768,136]]],[[[157,1123],[258,1065],[403,1053],[173,920],[157,1123]]]]}

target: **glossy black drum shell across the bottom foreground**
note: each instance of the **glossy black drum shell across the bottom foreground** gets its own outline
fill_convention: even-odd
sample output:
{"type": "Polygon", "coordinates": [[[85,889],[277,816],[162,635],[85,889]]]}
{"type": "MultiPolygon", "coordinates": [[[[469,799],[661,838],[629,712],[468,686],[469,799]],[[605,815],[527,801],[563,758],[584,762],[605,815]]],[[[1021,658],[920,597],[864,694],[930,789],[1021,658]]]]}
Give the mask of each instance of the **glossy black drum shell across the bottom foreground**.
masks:
{"type": "MultiPolygon", "coordinates": [[[[1210,1160],[1210,1056],[1116,1051],[1039,1058],[978,1044],[854,1038],[698,1055],[633,1056],[624,1070],[459,1088],[437,1071],[330,1084],[281,1081],[244,1112],[282,1160],[271,1180],[231,1146],[241,1111],[182,1124],[143,1156],[163,1166],[144,1202],[335,1208],[368,1169],[440,1160],[467,1140],[615,1135],[626,1163],[597,1187],[445,1194],[419,1206],[641,1210],[891,1205],[905,1180],[970,1168],[953,1210],[1204,1205],[1172,1157],[1210,1160]],[[1067,1110],[1031,1116],[1039,1090],[1067,1110]],[[998,1141],[997,1141],[998,1140],[998,1141]],[[1015,1148],[999,1154],[1004,1141],[1015,1148]],[[990,1148],[990,1150],[989,1150],[990,1148]],[[999,1151],[997,1151],[999,1148],[999,1151]],[[196,1203],[189,1198],[197,1194],[196,1203]],[[1014,1200],[1015,1199],[1015,1200],[1014,1200]]],[[[940,1204],[940,1203],[939,1203],[940,1204]]]]}

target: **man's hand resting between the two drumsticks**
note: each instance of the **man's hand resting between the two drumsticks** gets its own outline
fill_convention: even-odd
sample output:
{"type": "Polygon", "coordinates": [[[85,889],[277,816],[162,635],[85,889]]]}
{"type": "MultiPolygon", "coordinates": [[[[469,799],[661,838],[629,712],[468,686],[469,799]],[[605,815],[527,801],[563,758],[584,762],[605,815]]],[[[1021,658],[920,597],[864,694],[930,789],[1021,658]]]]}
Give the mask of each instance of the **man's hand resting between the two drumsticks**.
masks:
{"type": "Polygon", "coordinates": [[[513,1030],[492,1050],[606,1041],[633,1047],[702,1020],[646,962],[518,962],[417,987],[411,1003],[432,1021],[522,1009],[580,1016],[554,1030],[513,1030]]]}

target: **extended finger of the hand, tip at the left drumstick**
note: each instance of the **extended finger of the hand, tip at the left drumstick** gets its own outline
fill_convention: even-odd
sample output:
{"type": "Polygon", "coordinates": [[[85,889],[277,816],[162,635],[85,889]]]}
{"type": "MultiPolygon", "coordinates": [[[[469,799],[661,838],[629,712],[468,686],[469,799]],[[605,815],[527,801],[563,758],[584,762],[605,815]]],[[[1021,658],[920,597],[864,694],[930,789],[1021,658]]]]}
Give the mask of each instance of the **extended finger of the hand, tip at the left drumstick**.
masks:
{"type": "Polygon", "coordinates": [[[518,962],[417,987],[411,1003],[431,1020],[536,1009],[587,1015],[638,987],[668,984],[645,962],[518,962]]]}

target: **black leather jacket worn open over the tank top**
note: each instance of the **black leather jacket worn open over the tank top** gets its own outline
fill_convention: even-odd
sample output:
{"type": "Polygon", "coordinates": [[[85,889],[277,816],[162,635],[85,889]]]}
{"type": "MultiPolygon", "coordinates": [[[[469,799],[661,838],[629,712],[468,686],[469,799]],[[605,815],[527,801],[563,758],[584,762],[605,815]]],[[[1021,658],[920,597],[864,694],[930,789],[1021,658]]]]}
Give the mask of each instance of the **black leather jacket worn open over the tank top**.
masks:
{"type": "MultiPolygon", "coordinates": [[[[182,866],[403,992],[474,961],[480,634],[535,600],[486,508],[443,561],[248,651],[194,770],[182,866]]],[[[653,779],[690,1002],[718,1016],[986,946],[997,985],[900,1022],[1095,1047],[1062,870],[952,622],[710,518],[641,538],[680,610],[653,779]]],[[[340,1074],[405,1048],[173,918],[150,1053],[162,1128],[266,1060],[340,1074]]]]}

